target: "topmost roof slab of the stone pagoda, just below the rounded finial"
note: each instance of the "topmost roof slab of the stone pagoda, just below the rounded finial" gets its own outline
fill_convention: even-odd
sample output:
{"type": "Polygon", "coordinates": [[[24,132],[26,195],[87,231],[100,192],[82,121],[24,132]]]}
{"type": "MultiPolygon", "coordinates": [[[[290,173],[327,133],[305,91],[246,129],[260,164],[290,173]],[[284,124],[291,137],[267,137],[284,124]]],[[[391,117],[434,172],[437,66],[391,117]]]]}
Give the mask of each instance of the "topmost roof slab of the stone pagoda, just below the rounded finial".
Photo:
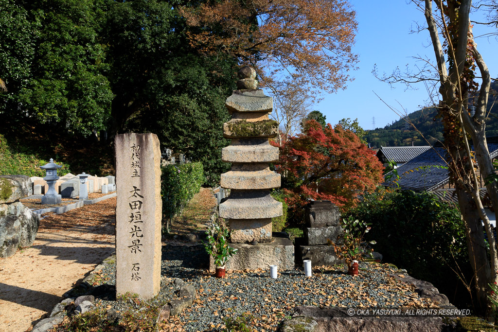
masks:
{"type": "Polygon", "coordinates": [[[271,112],[273,98],[264,95],[262,90],[234,91],[225,102],[230,114],[232,112],[271,112]]]}

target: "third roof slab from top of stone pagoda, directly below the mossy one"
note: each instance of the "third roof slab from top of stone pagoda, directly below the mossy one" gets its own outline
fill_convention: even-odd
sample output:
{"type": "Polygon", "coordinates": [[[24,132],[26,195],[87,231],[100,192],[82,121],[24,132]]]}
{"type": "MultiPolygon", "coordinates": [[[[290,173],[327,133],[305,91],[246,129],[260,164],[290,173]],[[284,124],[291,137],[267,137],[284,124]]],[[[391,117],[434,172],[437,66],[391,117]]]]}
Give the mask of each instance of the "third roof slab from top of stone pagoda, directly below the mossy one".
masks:
{"type": "Polygon", "coordinates": [[[269,144],[230,145],[222,149],[221,160],[227,163],[273,163],[278,161],[278,148],[269,144]]]}

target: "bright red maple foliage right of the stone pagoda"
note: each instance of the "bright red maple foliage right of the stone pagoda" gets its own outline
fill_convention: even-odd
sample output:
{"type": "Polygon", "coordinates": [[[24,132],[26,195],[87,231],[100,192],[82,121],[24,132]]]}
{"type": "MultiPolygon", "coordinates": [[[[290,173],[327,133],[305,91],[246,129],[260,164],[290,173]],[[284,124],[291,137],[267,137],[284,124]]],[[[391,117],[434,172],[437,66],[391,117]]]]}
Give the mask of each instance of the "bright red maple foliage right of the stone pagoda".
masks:
{"type": "Polygon", "coordinates": [[[280,148],[276,170],[285,178],[290,207],[313,199],[348,209],[382,180],[383,166],[374,152],[341,125],[333,128],[329,123],[323,128],[315,120],[306,121],[303,132],[280,148]]]}

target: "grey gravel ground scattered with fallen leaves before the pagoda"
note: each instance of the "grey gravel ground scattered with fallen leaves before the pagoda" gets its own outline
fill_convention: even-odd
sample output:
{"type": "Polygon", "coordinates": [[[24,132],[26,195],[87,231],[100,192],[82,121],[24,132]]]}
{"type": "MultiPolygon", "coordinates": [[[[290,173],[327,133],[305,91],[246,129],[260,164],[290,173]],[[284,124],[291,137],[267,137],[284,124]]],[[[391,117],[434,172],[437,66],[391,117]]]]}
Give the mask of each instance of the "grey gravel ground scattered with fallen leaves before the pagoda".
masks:
{"type": "MultiPolygon", "coordinates": [[[[171,318],[162,331],[221,331],[225,317],[253,316],[256,331],[275,331],[283,318],[292,316],[296,306],[317,307],[428,307],[414,287],[389,277],[394,270],[381,264],[360,263],[360,275],[346,274],[345,266],[322,267],[313,276],[302,268],[280,272],[277,279],[269,271],[234,271],[224,279],[207,271],[208,256],[200,245],[164,245],[162,285],[167,278],[180,278],[197,290],[197,298],[178,318],[171,318]]],[[[99,283],[115,284],[115,266],[101,272],[99,283]]],[[[175,287],[161,287],[158,299],[174,296],[175,287]]],[[[110,302],[109,304],[113,304],[110,302]]],[[[116,307],[118,303],[114,302],[116,307]]],[[[120,308],[122,305],[118,305],[120,308]]]]}

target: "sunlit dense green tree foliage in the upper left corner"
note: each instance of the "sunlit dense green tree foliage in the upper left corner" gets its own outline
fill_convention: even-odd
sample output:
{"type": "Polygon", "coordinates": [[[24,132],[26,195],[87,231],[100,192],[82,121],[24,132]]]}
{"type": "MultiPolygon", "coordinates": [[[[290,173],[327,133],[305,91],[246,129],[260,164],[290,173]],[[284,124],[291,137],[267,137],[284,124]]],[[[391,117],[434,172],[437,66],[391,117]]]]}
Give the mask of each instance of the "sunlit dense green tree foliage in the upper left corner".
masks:
{"type": "MultiPolygon", "coordinates": [[[[51,122],[85,136],[105,128],[113,94],[98,43],[100,7],[100,0],[35,0],[16,9],[15,17],[30,23],[9,36],[18,44],[28,41],[24,52],[7,54],[22,63],[24,77],[14,85],[11,103],[2,105],[10,119],[51,122]]],[[[6,83],[8,88],[8,78],[6,83]]]]}

